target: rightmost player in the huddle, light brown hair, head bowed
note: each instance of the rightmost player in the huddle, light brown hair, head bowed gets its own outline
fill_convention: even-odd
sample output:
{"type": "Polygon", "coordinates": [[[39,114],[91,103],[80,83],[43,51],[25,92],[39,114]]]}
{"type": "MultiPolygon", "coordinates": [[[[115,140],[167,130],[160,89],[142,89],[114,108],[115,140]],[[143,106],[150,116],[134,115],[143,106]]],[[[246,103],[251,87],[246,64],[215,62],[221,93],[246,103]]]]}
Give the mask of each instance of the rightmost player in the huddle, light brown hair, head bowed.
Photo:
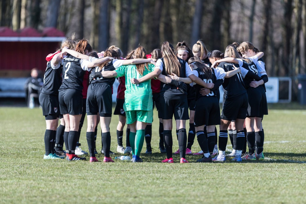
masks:
{"type": "MultiPolygon", "coordinates": [[[[240,52],[243,57],[249,58],[253,61],[256,61],[256,53],[259,52],[259,50],[252,43],[248,41],[241,43],[237,47],[237,51],[240,52]]],[[[264,83],[268,81],[268,77],[267,77],[267,72],[266,72],[266,65],[262,59],[259,59],[257,61],[256,67],[258,69],[258,76],[262,77],[262,80],[252,81],[250,83],[250,87],[256,88],[262,85],[264,89],[264,91],[262,90],[262,101],[260,103],[260,112],[262,113],[262,115],[257,119],[255,118],[255,124],[254,124],[255,140],[256,140],[256,146],[257,146],[256,159],[264,160],[264,156],[263,156],[264,132],[263,132],[263,126],[262,126],[262,118],[263,118],[263,115],[268,114],[267,97],[266,97],[265,86],[264,86],[264,83]]]]}

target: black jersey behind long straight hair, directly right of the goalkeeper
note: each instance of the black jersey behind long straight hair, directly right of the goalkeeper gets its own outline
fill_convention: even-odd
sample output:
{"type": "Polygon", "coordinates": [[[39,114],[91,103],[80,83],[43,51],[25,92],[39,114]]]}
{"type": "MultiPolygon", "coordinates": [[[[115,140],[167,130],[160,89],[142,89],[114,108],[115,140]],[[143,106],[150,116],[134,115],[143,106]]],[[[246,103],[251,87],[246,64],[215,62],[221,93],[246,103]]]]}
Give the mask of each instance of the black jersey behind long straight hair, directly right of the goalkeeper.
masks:
{"type": "MultiPolygon", "coordinates": [[[[166,69],[165,69],[165,62],[164,58],[161,58],[162,60],[162,75],[167,76],[166,69]]],[[[182,60],[181,58],[177,57],[178,62],[181,65],[181,78],[186,78],[186,61],[182,60]]],[[[160,83],[161,85],[161,91],[160,94],[166,98],[166,99],[185,99],[187,98],[187,95],[183,94],[180,90],[177,89],[177,87],[172,86],[170,84],[166,83],[160,83]]]]}

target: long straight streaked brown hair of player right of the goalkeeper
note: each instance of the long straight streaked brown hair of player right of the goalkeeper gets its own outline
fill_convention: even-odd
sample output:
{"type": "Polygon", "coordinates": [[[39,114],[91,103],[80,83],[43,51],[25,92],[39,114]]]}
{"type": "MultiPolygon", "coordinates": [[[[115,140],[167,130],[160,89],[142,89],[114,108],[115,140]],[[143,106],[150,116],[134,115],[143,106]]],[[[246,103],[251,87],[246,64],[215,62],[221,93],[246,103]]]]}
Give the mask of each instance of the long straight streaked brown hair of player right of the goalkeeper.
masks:
{"type": "Polygon", "coordinates": [[[174,54],[174,48],[169,42],[162,43],[162,57],[164,58],[166,74],[181,76],[181,65],[178,62],[177,56],[174,54]]]}

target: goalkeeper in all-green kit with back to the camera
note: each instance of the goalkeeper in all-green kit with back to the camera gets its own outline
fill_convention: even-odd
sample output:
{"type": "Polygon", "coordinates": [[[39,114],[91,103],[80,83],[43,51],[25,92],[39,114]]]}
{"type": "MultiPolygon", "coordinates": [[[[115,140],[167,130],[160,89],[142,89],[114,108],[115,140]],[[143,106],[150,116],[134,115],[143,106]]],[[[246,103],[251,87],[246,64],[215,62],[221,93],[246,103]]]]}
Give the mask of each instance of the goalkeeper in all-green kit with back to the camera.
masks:
{"type": "Polygon", "coordinates": [[[152,90],[150,81],[133,85],[130,79],[139,78],[151,72],[154,65],[147,64],[153,62],[151,59],[146,59],[146,52],[144,47],[139,46],[134,52],[134,57],[139,59],[132,59],[139,65],[127,65],[130,60],[123,60],[121,66],[114,71],[102,71],[99,74],[103,78],[125,76],[125,114],[127,123],[130,124],[130,144],[132,147],[132,162],[142,162],[139,157],[144,143],[144,129],[148,123],[153,120],[153,102],[152,90]],[[137,122],[137,123],[136,123],[137,122]]]}

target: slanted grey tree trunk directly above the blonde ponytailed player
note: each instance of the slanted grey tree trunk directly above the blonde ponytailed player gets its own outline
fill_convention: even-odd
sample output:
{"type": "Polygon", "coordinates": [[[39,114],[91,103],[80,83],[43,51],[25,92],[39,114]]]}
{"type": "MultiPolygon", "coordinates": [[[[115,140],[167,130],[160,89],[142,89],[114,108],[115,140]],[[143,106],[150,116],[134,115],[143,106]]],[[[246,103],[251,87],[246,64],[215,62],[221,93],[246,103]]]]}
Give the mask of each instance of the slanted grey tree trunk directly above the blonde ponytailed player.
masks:
{"type": "Polygon", "coordinates": [[[190,43],[193,45],[198,39],[200,39],[201,20],[202,20],[202,0],[196,0],[195,12],[193,15],[192,32],[190,43]]]}

